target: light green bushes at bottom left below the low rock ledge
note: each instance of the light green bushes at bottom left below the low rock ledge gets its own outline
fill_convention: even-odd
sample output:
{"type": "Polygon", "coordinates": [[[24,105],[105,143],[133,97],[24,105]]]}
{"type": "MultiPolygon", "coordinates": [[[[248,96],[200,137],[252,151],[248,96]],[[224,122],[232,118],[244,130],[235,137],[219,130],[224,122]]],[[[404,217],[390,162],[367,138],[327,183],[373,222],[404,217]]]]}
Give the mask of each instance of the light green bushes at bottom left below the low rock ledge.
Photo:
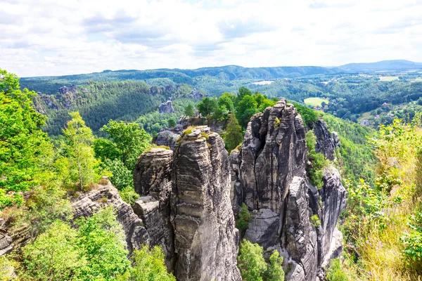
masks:
{"type": "Polygon", "coordinates": [[[112,280],[130,266],[124,233],[112,207],[91,218],[55,221],[23,248],[23,277],[35,280],[112,280]]]}

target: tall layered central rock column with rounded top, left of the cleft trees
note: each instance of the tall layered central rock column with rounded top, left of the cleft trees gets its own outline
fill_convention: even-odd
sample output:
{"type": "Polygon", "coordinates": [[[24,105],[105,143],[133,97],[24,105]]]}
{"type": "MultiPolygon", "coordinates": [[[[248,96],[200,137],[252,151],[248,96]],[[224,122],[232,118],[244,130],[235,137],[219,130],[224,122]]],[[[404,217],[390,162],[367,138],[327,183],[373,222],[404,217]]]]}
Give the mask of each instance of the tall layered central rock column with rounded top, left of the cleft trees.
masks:
{"type": "Polygon", "coordinates": [[[241,280],[230,181],[229,157],[217,133],[193,129],[177,143],[172,223],[178,280],[241,280]]]}

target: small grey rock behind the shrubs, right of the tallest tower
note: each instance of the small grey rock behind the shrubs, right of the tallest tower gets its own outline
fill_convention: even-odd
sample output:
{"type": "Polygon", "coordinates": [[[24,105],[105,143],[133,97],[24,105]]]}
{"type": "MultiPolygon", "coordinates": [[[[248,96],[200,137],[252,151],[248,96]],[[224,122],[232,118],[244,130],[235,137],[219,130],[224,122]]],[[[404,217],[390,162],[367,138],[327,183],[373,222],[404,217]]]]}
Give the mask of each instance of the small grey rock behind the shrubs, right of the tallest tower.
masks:
{"type": "Polygon", "coordinates": [[[319,119],[314,124],[314,134],[316,137],[315,152],[321,152],[326,159],[334,160],[335,148],[340,146],[338,134],[333,132],[332,136],[328,131],[328,126],[323,119],[319,119]]]}

